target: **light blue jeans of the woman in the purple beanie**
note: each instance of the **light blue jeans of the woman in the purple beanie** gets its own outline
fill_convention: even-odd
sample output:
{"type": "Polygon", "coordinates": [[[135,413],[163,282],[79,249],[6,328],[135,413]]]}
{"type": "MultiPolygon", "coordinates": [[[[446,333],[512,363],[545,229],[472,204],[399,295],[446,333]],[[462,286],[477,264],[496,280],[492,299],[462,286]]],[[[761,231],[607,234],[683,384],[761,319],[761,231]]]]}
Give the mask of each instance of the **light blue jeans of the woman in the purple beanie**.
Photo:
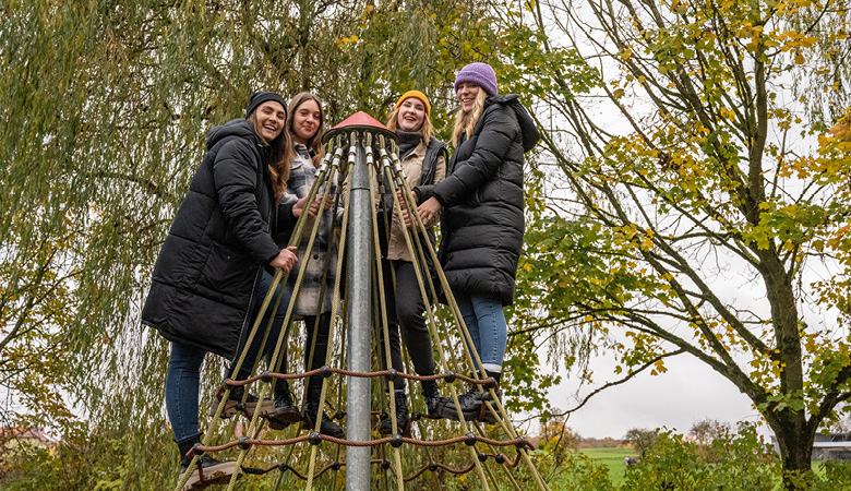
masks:
{"type": "Polygon", "coordinates": [[[502,302],[479,295],[455,291],[453,295],[484,370],[501,372],[508,342],[508,324],[505,322],[502,302]]]}

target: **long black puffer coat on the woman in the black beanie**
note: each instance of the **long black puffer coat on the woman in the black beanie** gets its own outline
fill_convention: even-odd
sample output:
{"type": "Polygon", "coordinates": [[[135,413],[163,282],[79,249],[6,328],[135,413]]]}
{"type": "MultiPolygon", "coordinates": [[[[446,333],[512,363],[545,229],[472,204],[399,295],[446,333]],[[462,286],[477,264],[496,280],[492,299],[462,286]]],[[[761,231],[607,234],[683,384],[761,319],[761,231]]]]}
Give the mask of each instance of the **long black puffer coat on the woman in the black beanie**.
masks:
{"type": "Polygon", "coordinates": [[[271,156],[244,119],[209,132],[142,310],[166,339],[235,357],[261,268],[280,251],[272,237],[296,220],[291,205],[275,206],[271,156]]]}

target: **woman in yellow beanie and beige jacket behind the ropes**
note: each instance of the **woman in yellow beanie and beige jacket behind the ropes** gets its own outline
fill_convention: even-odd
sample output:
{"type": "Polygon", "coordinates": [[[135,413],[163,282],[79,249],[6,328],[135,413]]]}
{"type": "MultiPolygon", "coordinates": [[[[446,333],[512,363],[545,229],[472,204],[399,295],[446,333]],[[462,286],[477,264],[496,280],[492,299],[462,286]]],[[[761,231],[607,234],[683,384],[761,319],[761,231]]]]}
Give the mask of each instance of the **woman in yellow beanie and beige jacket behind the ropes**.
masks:
{"type": "MultiPolygon", "coordinates": [[[[396,132],[399,137],[399,160],[408,179],[408,185],[434,184],[443,180],[446,175],[446,161],[448,152],[446,145],[432,136],[434,127],[431,124],[431,104],[429,98],[419,91],[409,91],[399,97],[396,107],[387,120],[387,128],[396,132]]],[[[385,178],[386,179],[386,178],[385,178]]],[[[389,183],[385,182],[385,194],[382,196],[382,205],[386,209],[389,227],[384,221],[384,212],[379,212],[379,236],[382,248],[382,271],[384,272],[385,300],[388,316],[388,338],[391,361],[393,368],[403,372],[405,367],[401,361],[401,348],[399,343],[399,330],[401,339],[408,349],[413,370],[418,375],[431,375],[436,363],[432,355],[431,336],[425,324],[423,312],[425,310],[420,288],[417,283],[411,254],[405,241],[404,227],[413,231],[410,218],[406,211],[403,216],[395,215],[393,196],[389,183]],[[391,268],[395,273],[396,284],[393,285],[391,268]]],[[[415,235],[413,238],[430,240],[434,244],[434,230],[432,226],[436,220],[425,224],[428,237],[415,235]]],[[[425,272],[423,272],[425,273],[425,272]]],[[[379,343],[381,349],[381,362],[386,363],[384,352],[383,331],[379,343]]],[[[395,382],[396,423],[398,431],[408,433],[408,405],[405,395],[404,379],[395,382]]],[[[422,395],[430,417],[440,417],[439,408],[441,396],[438,384],[434,381],[422,383],[422,395]]],[[[379,424],[379,432],[388,434],[393,431],[392,421],[387,418],[379,424]]]]}

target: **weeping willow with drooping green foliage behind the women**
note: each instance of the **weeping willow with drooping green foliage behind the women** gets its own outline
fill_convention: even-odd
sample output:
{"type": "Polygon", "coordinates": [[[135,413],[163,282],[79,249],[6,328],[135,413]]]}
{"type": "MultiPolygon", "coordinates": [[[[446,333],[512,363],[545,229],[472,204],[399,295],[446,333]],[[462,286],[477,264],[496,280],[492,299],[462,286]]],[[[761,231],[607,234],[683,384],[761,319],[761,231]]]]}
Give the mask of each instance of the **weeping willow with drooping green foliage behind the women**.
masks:
{"type": "Polygon", "coordinates": [[[45,482],[167,487],[167,346],[140,326],[139,310],[207,130],[240,117],[261,88],[311,89],[329,122],[357,109],[383,117],[415,85],[440,96],[433,106],[445,113],[441,95],[478,46],[468,36],[487,31],[480,9],[455,0],[0,5],[0,384],[13,402],[4,422],[50,424],[74,448],[112,455],[103,468],[67,463],[75,477],[45,482]]]}

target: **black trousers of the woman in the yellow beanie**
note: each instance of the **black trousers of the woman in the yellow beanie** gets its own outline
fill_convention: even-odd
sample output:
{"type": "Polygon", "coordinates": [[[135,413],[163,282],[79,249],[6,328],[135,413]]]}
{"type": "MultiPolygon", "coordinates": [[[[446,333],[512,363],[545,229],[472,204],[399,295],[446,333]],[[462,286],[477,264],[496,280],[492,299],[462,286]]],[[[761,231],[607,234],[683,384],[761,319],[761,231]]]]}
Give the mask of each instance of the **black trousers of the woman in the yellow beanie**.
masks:
{"type": "MultiPolygon", "coordinates": [[[[401,328],[401,339],[408,349],[408,356],[410,356],[410,360],[413,363],[413,370],[418,375],[431,375],[434,373],[436,363],[432,352],[429,326],[425,323],[425,307],[420,295],[413,263],[385,260],[382,264],[382,272],[384,274],[387,334],[393,368],[399,372],[405,371],[405,366],[401,361],[401,346],[399,344],[399,328],[401,328]],[[395,291],[393,289],[391,267],[396,272],[395,291]]],[[[384,326],[381,323],[379,323],[379,352],[381,366],[386,369],[384,326]]],[[[397,380],[395,388],[405,388],[405,380],[397,380]]]]}

